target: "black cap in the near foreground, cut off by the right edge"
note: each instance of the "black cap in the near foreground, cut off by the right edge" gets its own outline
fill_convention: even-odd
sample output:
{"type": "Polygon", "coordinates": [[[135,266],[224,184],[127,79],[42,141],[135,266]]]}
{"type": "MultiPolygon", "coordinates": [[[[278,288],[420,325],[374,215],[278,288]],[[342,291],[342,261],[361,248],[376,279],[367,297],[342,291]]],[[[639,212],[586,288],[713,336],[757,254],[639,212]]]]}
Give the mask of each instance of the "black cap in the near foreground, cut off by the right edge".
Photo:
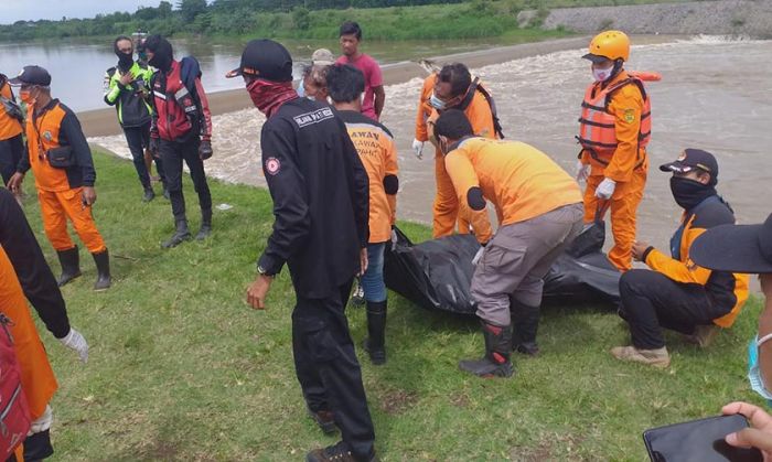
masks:
{"type": "Polygon", "coordinates": [[[717,271],[772,273],[772,215],[763,225],[720,225],[703,233],[689,258],[717,271]]]}

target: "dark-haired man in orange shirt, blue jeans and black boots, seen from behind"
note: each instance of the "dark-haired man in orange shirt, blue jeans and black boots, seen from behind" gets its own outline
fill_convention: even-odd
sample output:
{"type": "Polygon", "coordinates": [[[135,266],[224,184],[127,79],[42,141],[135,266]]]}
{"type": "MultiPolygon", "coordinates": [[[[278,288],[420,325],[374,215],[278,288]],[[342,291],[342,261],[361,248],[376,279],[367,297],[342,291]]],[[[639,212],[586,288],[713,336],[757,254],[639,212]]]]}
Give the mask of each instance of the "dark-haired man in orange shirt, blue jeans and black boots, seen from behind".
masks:
{"type": "Polygon", "coordinates": [[[397,213],[397,150],[392,132],[362,114],[365,77],[351,65],[328,69],[328,90],[335,109],[346,123],[349,137],[360,154],[369,180],[369,240],[367,270],[362,275],[362,288],[367,301],[367,340],[364,347],[373,364],[386,363],[386,283],[384,282],[384,250],[392,237],[397,213]]]}

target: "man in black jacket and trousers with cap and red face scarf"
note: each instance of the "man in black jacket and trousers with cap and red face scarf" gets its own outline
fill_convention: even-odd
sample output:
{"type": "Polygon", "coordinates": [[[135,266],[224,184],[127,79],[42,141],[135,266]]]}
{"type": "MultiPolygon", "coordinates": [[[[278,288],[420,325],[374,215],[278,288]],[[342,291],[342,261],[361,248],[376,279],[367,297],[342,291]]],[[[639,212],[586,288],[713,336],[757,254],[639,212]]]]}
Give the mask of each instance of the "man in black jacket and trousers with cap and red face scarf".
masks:
{"type": "Polygon", "coordinates": [[[292,89],[292,58],[280,44],[251,41],[240,66],[255,106],[268,120],[260,144],[274,198],[274,233],[247,290],[265,309],[272,278],[289,267],[296,372],[312,417],[342,440],[307,461],[374,461],[375,432],[344,307],[354,276],[367,268],[368,181],[334,109],[292,89]]]}

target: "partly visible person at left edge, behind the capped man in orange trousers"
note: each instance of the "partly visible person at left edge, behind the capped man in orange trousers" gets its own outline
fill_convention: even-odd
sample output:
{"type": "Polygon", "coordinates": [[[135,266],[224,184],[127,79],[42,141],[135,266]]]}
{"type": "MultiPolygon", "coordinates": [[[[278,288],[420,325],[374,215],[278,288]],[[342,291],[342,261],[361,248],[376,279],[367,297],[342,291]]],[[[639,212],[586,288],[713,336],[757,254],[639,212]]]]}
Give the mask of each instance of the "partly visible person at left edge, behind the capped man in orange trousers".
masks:
{"type": "Polygon", "coordinates": [[[0,174],[8,184],[24,154],[21,123],[24,115],[19,108],[8,77],[0,74],[0,174]]]}

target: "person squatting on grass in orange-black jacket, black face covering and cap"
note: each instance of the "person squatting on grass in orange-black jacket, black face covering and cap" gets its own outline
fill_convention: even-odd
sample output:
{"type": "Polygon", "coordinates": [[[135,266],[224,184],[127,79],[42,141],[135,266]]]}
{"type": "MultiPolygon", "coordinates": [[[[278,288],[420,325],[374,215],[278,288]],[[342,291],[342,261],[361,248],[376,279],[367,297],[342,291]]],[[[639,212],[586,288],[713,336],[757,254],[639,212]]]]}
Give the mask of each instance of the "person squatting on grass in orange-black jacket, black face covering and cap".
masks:
{"type": "Polygon", "coordinates": [[[671,239],[671,256],[643,241],[633,244],[633,257],[651,269],[631,269],[619,282],[619,314],[630,324],[632,345],[611,354],[622,361],[667,367],[671,357],[662,327],[707,346],[717,326],[728,329],[748,299],[748,276],[711,271],[695,264],[690,247],[706,229],[735,223],[735,213],[718,195],[718,162],[700,149],[686,149],[674,162],[660,166],[672,172],[671,191],[684,208],[680,226],[671,239]]]}

